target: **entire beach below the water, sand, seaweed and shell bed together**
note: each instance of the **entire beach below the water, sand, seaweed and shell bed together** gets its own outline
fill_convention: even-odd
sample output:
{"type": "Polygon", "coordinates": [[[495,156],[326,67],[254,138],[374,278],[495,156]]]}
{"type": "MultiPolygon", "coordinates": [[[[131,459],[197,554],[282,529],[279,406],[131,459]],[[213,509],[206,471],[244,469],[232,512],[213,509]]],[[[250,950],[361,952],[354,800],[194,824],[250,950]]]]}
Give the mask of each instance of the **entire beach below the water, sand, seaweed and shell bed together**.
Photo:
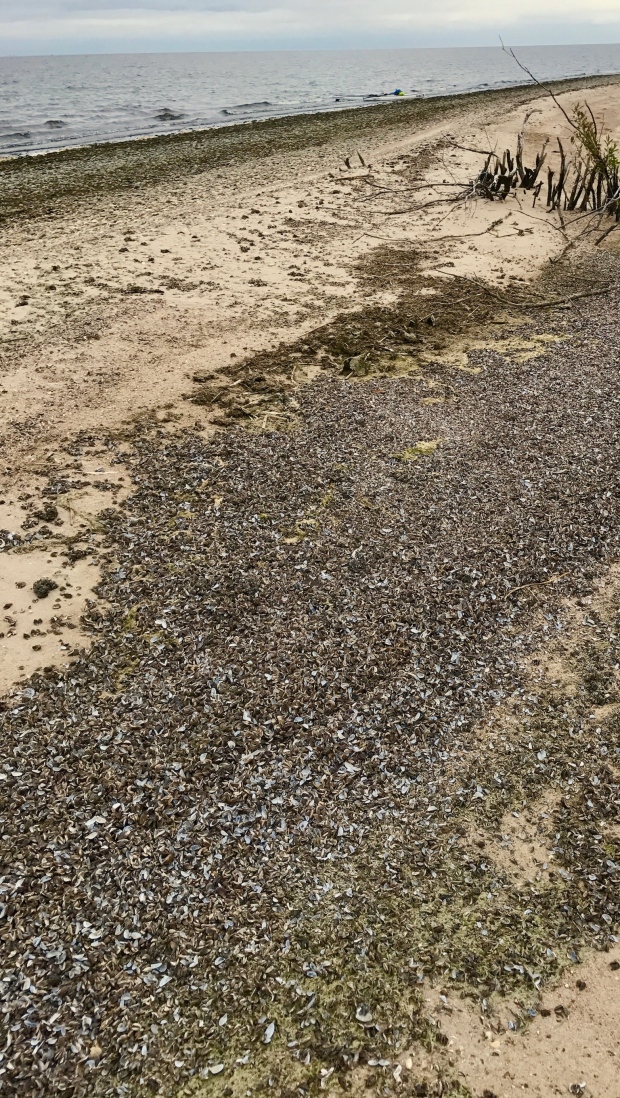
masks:
{"type": "Polygon", "coordinates": [[[520,133],[0,163],[0,1094],[616,1094],[620,231],[520,133]]]}

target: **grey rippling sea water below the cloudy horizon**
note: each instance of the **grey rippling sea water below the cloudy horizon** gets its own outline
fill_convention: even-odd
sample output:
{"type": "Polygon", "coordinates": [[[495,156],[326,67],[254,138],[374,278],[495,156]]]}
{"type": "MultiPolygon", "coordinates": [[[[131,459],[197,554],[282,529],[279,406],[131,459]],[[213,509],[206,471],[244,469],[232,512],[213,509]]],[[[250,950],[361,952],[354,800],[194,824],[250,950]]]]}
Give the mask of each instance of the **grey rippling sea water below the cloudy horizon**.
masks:
{"type": "MultiPolygon", "coordinates": [[[[620,72],[620,45],[519,57],[541,80],[620,72]]],[[[493,47],[0,57],[0,155],[525,81],[493,47]]]]}

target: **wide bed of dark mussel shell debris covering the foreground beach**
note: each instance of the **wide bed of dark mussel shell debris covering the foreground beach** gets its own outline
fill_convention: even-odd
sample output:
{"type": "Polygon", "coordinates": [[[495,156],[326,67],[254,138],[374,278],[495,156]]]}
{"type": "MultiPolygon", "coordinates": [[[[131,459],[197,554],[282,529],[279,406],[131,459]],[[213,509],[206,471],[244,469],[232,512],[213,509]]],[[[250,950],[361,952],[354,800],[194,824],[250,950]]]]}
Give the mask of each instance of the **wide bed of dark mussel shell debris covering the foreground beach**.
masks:
{"type": "Polygon", "coordinates": [[[322,372],[295,430],[136,427],[90,651],[1,702],[0,1094],[464,1095],[428,983],[519,1027],[609,946],[618,303],[442,404],[322,372]],[[570,696],[526,668],[566,600],[570,696]],[[511,873],[544,797],[553,872],[511,873]]]}

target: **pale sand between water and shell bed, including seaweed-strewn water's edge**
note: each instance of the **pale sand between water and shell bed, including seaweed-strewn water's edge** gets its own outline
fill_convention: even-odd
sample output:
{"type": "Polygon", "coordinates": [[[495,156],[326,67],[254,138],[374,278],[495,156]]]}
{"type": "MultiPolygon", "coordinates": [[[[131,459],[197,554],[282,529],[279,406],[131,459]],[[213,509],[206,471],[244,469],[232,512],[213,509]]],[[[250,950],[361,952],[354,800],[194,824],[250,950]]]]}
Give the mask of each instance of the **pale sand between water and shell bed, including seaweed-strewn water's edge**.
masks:
{"type": "MultiPolygon", "coordinates": [[[[590,82],[617,133],[618,83],[590,82]]],[[[580,98],[577,81],[568,110],[580,98]]],[[[418,204],[480,170],[451,139],[501,148],[526,113],[526,154],[570,137],[549,98],[510,89],[0,163],[11,475],[71,432],[178,415],[196,370],[216,374],[352,301],[395,300],[397,269],[379,290],[360,278],[381,246],[410,248],[420,272],[536,279],[564,240],[531,202],[406,210],[412,180],[429,184],[418,204]]]]}

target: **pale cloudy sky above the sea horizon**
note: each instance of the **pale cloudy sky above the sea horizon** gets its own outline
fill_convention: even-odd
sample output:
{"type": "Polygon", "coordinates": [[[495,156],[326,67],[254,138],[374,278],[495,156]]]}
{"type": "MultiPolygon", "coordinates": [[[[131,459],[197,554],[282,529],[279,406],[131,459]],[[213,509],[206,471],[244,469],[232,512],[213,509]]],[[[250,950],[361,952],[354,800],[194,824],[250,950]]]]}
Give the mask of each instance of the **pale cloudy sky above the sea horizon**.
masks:
{"type": "Polygon", "coordinates": [[[620,42],[620,0],[0,0],[0,55],[620,42]]]}

